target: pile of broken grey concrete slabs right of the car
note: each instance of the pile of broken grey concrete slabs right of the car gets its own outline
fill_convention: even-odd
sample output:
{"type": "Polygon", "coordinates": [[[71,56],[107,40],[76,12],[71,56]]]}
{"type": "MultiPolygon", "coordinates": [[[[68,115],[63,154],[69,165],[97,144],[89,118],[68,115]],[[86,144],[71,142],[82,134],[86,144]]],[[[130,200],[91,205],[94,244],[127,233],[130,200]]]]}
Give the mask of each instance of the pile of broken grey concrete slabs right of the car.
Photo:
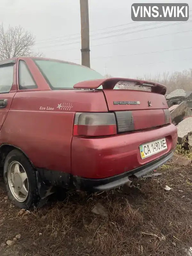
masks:
{"type": "Polygon", "coordinates": [[[192,91],[175,90],[166,95],[172,123],[177,126],[178,143],[192,150],[192,91]]]}

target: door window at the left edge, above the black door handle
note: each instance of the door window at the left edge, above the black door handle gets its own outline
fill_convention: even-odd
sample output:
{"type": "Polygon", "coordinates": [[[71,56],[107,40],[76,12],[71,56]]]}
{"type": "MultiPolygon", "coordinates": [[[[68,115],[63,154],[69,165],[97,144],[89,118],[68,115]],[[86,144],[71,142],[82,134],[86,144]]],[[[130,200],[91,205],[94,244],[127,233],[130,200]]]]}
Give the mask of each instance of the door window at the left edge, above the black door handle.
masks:
{"type": "Polygon", "coordinates": [[[14,65],[0,65],[0,93],[9,92],[13,84],[14,65]]]}

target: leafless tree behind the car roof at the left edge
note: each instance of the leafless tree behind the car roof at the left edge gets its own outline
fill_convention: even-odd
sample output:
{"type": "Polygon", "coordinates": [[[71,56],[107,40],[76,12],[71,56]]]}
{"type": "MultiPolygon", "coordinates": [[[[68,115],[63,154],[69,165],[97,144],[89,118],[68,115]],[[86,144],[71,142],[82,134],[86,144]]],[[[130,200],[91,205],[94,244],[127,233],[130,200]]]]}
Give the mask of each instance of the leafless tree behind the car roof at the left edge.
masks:
{"type": "Polygon", "coordinates": [[[31,47],[35,44],[35,38],[22,27],[11,27],[5,31],[0,25],[0,60],[20,56],[41,56],[34,53],[31,47]]]}

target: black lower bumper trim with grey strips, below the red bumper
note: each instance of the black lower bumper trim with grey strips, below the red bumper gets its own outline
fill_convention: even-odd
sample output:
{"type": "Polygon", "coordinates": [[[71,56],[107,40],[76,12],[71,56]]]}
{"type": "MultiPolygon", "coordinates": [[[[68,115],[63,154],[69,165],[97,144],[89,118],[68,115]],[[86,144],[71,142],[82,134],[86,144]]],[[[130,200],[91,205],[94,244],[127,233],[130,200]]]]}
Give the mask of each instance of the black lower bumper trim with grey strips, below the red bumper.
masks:
{"type": "Polygon", "coordinates": [[[93,192],[106,191],[109,189],[117,188],[127,183],[130,176],[141,178],[145,174],[150,173],[151,171],[166,163],[172,156],[173,151],[139,168],[105,179],[85,179],[73,176],[73,184],[77,189],[93,192]]]}

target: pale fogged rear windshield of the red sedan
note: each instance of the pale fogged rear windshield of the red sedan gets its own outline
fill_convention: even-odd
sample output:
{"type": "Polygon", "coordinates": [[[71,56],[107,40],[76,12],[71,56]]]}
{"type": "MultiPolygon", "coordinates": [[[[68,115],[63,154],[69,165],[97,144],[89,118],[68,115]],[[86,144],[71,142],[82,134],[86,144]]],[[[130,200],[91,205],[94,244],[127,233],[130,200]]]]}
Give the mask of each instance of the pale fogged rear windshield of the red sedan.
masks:
{"type": "Polygon", "coordinates": [[[73,85],[78,82],[104,78],[96,71],[81,65],[54,60],[34,61],[52,90],[73,89],[73,85]]]}

